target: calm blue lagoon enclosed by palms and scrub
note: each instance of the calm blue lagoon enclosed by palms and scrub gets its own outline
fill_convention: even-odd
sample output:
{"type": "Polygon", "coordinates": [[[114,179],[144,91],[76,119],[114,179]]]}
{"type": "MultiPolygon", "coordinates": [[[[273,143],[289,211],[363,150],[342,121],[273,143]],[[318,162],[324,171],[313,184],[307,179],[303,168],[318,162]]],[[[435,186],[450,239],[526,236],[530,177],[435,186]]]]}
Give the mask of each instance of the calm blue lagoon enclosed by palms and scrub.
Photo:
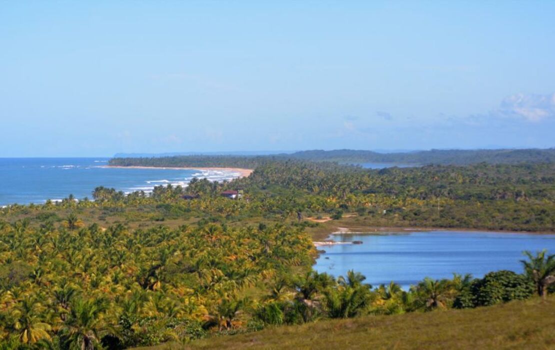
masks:
{"type": "Polygon", "coordinates": [[[335,241],[363,241],[321,249],[316,271],[345,276],[361,272],[372,286],[395,281],[404,289],[424,277],[451,278],[453,272],[482,277],[487,272],[522,272],[522,251],[547,249],[555,253],[555,235],[497,232],[402,232],[398,234],[332,235],[335,241]]]}

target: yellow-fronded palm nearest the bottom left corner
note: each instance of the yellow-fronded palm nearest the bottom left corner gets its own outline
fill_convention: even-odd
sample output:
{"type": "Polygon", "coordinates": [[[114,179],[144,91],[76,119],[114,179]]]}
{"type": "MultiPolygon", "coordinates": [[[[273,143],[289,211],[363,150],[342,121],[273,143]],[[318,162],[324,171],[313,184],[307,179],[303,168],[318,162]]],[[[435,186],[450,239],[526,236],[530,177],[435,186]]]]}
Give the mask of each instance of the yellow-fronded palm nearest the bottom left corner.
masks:
{"type": "Polygon", "coordinates": [[[19,333],[19,340],[24,344],[33,344],[40,339],[51,339],[48,331],[50,324],[42,322],[39,313],[44,310],[41,303],[33,298],[24,298],[13,312],[14,329],[19,333]]]}

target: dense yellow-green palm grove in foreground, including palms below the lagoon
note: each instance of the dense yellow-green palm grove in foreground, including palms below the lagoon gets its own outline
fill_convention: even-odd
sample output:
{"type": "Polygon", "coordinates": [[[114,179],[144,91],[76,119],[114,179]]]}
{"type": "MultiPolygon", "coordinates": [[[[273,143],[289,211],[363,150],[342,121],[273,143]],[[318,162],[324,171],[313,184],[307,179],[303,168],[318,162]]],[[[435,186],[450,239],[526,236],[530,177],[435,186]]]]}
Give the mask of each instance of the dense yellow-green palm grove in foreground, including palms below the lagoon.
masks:
{"type": "Polygon", "coordinates": [[[54,229],[2,225],[4,348],[117,349],[324,318],[489,306],[536,290],[544,296],[534,283],[555,278],[546,270],[555,256],[538,252],[523,261],[527,275],[498,271],[475,280],[426,278],[410,291],[393,282],[372,289],[354,271],[337,279],[310,271],[314,247],[292,227],[72,229],[70,219],[54,229]]]}

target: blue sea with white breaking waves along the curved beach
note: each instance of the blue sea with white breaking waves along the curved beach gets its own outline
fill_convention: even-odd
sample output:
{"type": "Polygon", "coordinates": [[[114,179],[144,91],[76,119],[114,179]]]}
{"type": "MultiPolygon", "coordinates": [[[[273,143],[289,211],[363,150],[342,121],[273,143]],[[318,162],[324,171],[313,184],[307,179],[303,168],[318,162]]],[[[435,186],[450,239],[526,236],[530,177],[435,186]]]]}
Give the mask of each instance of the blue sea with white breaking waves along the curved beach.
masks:
{"type": "Polygon", "coordinates": [[[73,194],[92,197],[97,186],[132,192],[158,185],[185,186],[193,177],[229,180],[233,171],[106,168],[108,158],[0,158],[0,206],[44,203],[73,194]]]}

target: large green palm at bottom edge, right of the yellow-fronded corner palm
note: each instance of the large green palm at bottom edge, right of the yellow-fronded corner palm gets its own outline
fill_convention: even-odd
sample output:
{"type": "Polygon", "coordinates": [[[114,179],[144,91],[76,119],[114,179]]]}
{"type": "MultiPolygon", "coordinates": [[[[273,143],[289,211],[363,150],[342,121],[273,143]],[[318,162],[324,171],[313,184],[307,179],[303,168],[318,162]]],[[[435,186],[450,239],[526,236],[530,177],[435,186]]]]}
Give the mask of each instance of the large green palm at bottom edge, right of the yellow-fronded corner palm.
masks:
{"type": "Polygon", "coordinates": [[[105,305],[98,300],[78,299],[72,303],[64,331],[73,346],[81,350],[94,349],[100,333],[107,331],[102,318],[105,310],[105,305]]]}

